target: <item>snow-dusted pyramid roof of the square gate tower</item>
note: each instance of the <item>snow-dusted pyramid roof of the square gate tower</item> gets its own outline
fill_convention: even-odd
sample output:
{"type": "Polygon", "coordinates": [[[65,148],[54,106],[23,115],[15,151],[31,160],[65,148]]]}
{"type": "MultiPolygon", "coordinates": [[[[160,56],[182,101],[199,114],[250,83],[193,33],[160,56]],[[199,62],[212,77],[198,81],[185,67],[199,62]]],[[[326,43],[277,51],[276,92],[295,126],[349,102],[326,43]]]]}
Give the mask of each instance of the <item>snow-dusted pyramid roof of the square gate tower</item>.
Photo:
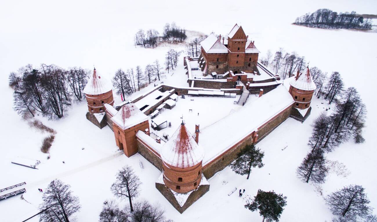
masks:
{"type": "Polygon", "coordinates": [[[140,111],[139,108],[133,103],[128,103],[122,106],[118,113],[111,118],[111,120],[116,123],[123,130],[135,126],[141,122],[148,120],[146,114],[140,111]]]}

